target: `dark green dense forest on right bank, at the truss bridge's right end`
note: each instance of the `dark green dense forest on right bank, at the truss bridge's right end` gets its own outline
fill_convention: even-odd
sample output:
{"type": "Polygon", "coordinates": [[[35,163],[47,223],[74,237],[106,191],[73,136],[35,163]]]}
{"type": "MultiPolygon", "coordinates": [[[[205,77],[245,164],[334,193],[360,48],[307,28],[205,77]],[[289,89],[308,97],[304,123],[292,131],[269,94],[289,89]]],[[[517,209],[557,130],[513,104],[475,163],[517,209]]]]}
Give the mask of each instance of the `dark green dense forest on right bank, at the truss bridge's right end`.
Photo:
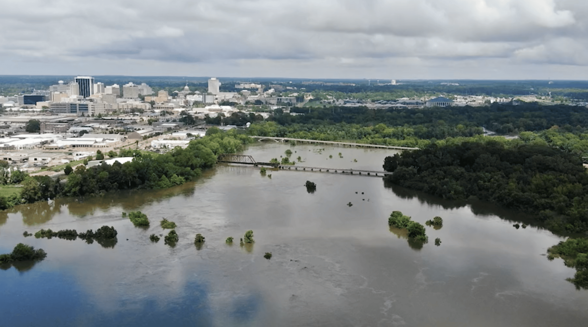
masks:
{"type": "Polygon", "coordinates": [[[588,173],[569,152],[482,138],[387,156],[383,168],[397,185],[533,213],[554,232],[588,231],[588,173]]]}

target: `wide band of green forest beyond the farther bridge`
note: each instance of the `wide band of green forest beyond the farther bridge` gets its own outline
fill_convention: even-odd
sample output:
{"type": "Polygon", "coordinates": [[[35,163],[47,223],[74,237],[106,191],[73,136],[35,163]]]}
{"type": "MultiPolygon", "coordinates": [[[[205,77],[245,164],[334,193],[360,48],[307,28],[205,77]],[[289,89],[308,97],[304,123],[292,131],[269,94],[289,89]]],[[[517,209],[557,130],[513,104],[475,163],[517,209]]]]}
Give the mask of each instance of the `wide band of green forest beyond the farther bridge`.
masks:
{"type": "MultiPolygon", "coordinates": [[[[494,104],[489,107],[422,109],[297,108],[305,115],[276,110],[265,122],[253,115],[233,114],[225,124],[253,122],[249,135],[325,141],[413,146],[452,138],[475,138],[483,128],[499,134],[519,134],[523,142],[549,145],[588,156],[588,111],[579,106],[494,104]]],[[[219,119],[220,124],[220,119],[219,119]]]]}

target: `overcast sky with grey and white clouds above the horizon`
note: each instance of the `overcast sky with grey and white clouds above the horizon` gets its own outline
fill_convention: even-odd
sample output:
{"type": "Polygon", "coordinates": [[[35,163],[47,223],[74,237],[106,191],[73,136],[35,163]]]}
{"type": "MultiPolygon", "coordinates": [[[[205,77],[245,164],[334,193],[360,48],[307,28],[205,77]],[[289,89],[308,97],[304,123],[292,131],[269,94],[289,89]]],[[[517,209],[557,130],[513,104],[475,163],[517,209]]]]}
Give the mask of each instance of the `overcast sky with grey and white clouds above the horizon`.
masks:
{"type": "Polygon", "coordinates": [[[0,0],[1,75],[588,79],[583,0],[0,0]]]}

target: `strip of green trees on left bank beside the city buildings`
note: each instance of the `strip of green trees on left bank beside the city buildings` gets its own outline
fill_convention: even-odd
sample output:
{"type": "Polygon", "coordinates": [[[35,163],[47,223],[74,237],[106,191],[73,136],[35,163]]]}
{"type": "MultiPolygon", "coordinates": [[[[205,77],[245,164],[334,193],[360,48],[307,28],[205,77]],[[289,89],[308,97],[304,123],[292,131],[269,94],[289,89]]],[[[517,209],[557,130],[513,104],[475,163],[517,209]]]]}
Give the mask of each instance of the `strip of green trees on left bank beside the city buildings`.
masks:
{"type": "Polygon", "coordinates": [[[192,141],[186,149],[175,148],[163,155],[123,150],[121,156],[133,155],[135,159],[122,164],[102,163],[91,168],[81,165],[69,173],[65,182],[48,176],[26,176],[20,195],[0,196],[0,209],[59,196],[98,195],[117,189],[168,188],[201,175],[202,169],[211,168],[216,163],[217,155],[236,152],[252,141],[237,131],[221,132],[212,128],[205,137],[192,141]]]}

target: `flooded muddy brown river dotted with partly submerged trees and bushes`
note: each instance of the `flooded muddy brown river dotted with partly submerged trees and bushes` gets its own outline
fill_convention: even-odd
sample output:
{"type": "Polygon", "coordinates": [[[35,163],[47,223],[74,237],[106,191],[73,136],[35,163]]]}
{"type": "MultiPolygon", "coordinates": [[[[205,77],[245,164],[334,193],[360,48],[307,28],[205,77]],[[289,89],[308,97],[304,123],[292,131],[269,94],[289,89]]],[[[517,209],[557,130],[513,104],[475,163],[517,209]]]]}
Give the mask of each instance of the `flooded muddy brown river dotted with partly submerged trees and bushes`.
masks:
{"type": "MultiPolygon", "coordinates": [[[[382,170],[381,149],[258,144],[256,161],[382,170]],[[324,149],[324,150],[323,150],[324,149]],[[343,158],[340,158],[339,152],[343,158]],[[329,155],[332,158],[329,158],[329,155]],[[355,159],[355,160],[354,160],[355,159]]],[[[2,326],[583,326],[588,291],[574,269],[547,261],[559,236],[488,203],[445,201],[382,178],[219,165],[198,181],[157,191],[58,199],[0,212],[0,253],[24,242],[48,253],[0,271],[2,326]],[[267,175],[271,174],[269,178],[267,175]],[[315,193],[304,183],[316,183],[315,193]],[[351,202],[352,206],[347,203],[351,202]],[[121,212],[151,220],[135,228],[121,212]],[[387,218],[425,223],[409,243],[387,218]],[[178,225],[171,248],[149,241],[159,220],[178,225]],[[118,243],[24,238],[41,228],[114,226],[118,243]],[[255,243],[239,246],[252,229],[255,243]],[[196,249],[193,239],[206,242],[196,249]],[[233,236],[236,242],[227,245],[233,236]],[[433,240],[442,244],[435,246],[433,240]],[[263,258],[272,252],[270,260],[263,258]]]]}

